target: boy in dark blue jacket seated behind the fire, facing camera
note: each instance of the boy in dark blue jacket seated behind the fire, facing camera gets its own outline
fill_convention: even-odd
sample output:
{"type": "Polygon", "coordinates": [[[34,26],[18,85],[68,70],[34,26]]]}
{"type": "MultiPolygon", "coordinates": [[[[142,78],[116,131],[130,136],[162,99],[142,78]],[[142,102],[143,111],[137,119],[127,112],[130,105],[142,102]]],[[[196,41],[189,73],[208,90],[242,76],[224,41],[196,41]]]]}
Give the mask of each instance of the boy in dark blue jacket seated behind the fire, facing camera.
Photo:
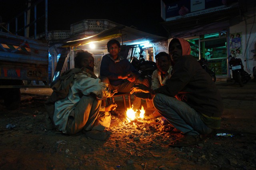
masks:
{"type": "MultiPolygon", "coordinates": [[[[111,90],[130,93],[134,83],[150,86],[149,81],[140,78],[138,70],[127,59],[118,55],[121,50],[119,41],[116,39],[108,41],[107,48],[109,54],[102,57],[100,64],[100,79],[102,82],[108,83],[111,90]]],[[[134,96],[132,105],[134,109],[140,109],[141,99],[134,96]]]]}

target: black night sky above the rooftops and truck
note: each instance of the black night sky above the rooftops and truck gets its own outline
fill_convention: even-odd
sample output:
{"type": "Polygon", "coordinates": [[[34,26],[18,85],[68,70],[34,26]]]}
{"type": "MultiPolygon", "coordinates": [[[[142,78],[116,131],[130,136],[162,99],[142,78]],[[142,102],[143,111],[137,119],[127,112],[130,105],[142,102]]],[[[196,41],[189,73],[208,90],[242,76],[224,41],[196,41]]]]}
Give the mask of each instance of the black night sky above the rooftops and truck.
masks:
{"type": "MultiPolygon", "coordinates": [[[[0,0],[2,22],[25,8],[26,0],[0,0]]],[[[70,30],[72,23],[86,19],[107,19],[155,35],[167,35],[160,24],[164,21],[160,0],[48,0],[49,31],[70,30]]]]}

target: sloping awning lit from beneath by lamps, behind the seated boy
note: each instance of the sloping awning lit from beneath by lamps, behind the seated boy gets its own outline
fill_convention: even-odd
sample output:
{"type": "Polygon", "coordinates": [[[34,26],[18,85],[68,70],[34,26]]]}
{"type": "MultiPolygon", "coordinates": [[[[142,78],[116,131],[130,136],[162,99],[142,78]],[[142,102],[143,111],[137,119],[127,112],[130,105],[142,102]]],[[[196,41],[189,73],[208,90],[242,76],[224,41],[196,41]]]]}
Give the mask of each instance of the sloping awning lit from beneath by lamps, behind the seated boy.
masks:
{"type": "Polygon", "coordinates": [[[150,43],[153,43],[166,41],[168,39],[167,37],[153,35],[150,33],[139,31],[138,29],[126,27],[125,25],[117,25],[90,37],[68,41],[64,43],[62,47],[77,47],[79,45],[86,45],[91,42],[99,41],[101,42],[101,46],[106,46],[107,42],[103,41],[109,41],[110,39],[118,37],[121,37],[122,43],[124,45],[135,44],[136,42],[141,41],[149,41],[150,43]]]}

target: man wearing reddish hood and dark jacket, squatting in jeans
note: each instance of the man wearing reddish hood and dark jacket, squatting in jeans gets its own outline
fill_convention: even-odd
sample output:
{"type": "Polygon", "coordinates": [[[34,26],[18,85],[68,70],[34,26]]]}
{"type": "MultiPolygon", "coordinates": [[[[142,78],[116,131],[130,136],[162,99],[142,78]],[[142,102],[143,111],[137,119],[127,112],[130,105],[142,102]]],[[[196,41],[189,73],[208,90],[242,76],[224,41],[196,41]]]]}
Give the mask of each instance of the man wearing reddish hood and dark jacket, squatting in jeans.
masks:
{"type": "Polygon", "coordinates": [[[172,76],[164,86],[149,91],[154,107],[184,133],[184,137],[170,143],[170,147],[201,143],[203,135],[220,128],[223,111],[220,92],[209,74],[190,55],[190,50],[188,41],[172,39],[168,47],[172,76]]]}

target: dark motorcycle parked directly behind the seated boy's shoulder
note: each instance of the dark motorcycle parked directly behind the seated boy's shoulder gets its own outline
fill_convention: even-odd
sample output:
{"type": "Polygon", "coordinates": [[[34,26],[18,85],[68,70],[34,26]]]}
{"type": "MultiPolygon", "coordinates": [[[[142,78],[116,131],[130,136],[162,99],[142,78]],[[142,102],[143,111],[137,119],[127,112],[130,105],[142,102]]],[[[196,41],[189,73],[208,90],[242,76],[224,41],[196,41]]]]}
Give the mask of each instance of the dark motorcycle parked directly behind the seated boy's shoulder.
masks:
{"type": "Polygon", "coordinates": [[[138,72],[140,72],[140,76],[142,78],[152,78],[152,74],[154,70],[156,70],[157,66],[155,62],[146,61],[143,58],[143,51],[144,50],[142,49],[142,47],[140,47],[139,59],[133,57],[130,63],[132,63],[132,66],[134,66],[134,68],[138,70],[138,72]]]}

